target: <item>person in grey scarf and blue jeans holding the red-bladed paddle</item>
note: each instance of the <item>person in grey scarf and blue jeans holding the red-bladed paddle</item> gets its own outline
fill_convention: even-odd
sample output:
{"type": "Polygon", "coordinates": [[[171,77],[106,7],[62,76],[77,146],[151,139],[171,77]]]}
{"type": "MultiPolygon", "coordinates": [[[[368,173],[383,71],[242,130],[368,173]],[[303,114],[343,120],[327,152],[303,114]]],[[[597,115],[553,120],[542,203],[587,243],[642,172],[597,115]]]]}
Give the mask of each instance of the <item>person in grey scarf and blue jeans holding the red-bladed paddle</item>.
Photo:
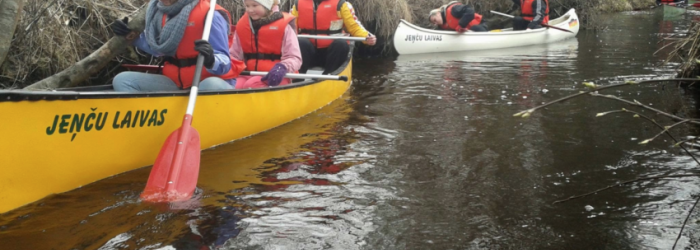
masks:
{"type": "MultiPolygon", "coordinates": [[[[208,0],[150,0],[144,32],[134,46],[163,57],[162,75],[141,72],[119,73],[112,85],[115,91],[174,91],[188,89],[194,79],[197,56],[204,57],[199,90],[233,89],[235,78],[243,71],[243,62],[228,53],[233,35],[231,15],[216,5],[209,41],[201,40],[208,0]]],[[[117,36],[131,33],[128,18],[114,21],[110,27],[117,36]]]]}

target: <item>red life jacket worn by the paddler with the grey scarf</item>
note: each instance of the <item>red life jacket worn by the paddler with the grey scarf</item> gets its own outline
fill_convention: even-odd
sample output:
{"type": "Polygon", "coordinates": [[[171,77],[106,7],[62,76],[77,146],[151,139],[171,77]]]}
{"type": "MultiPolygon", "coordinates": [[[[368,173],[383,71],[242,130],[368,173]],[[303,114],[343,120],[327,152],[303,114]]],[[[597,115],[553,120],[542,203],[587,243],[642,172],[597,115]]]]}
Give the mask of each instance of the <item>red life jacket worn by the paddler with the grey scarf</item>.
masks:
{"type": "MultiPolygon", "coordinates": [[[[204,32],[204,19],[207,16],[207,11],[209,11],[209,0],[200,0],[199,4],[192,9],[190,16],[187,20],[187,27],[185,28],[185,34],[182,36],[182,40],[177,47],[175,56],[171,58],[166,58],[163,64],[163,75],[173,80],[178,87],[186,89],[192,86],[192,80],[194,79],[195,67],[197,62],[197,56],[199,52],[194,50],[194,41],[202,39],[202,33],[204,32]]],[[[233,27],[231,24],[231,15],[224,8],[216,5],[216,11],[220,13],[225,13],[225,18],[228,19],[229,27],[233,27]]],[[[163,26],[165,26],[167,16],[163,15],[163,26]]],[[[228,34],[229,44],[233,42],[233,32],[229,31],[228,34]]],[[[238,74],[243,70],[242,63],[231,58],[231,69],[226,72],[226,74],[219,75],[221,79],[233,79],[238,76],[238,74]]],[[[206,69],[202,69],[202,78],[204,80],[207,77],[212,76],[206,69]]]]}

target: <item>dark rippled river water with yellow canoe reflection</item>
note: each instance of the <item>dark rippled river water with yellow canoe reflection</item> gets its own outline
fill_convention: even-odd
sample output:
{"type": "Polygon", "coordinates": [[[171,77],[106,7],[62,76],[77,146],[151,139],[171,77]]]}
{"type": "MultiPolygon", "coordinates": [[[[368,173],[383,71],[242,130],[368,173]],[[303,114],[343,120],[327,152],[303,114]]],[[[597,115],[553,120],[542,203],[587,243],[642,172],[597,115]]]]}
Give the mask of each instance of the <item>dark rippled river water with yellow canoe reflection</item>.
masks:
{"type": "MultiPolygon", "coordinates": [[[[667,137],[638,144],[658,128],[630,114],[596,118],[628,106],[588,96],[513,114],[583,81],[673,76],[677,65],[661,64],[669,49],[654,52],[693,15],[620,13],[559,44],[358,60],[340,100],[204,151],[193,200],[141,203],[150,168],[139,169],[1,214],[0,249],[671,249],[696,177],[552,204],[697,173],[667,137]]],[[[604,93],[697,115],[670,83],[604,93]]],[[[677,249],[700,247],[699,219],[677,249]]]]}

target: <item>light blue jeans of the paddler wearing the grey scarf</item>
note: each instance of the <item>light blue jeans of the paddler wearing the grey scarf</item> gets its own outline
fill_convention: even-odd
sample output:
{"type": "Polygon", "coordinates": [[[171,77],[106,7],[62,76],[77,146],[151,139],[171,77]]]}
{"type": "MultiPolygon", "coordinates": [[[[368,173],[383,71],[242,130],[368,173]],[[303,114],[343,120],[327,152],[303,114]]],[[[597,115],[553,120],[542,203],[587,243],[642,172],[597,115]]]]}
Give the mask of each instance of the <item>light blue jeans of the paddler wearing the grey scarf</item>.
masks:
{"type": "MultiPolygon", "coordinates": [[[[208,77],[199,83],[199,90],[226,90],[234,89],[235,79],[232,79],[233,86],[218,77],[208,77]]],[[[114,91],[117,92],[155,92],[155,91],[176,91],[180,88],[164,75],[147,74],[142,72],[125,71],[117,74],[112,80],[114,91]]]]}

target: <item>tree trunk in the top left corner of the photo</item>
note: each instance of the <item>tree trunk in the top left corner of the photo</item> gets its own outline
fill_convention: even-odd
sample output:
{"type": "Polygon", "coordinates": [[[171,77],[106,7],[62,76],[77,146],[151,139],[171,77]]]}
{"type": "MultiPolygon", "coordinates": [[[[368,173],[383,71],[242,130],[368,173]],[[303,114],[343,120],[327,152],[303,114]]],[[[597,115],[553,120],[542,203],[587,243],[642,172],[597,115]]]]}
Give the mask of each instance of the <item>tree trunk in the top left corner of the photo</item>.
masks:
{"type": "Polygon", "coordinates": [[[0,65],[10,50],[15,27],[22,14],[24,0],[0,0],[0,65]]]}

